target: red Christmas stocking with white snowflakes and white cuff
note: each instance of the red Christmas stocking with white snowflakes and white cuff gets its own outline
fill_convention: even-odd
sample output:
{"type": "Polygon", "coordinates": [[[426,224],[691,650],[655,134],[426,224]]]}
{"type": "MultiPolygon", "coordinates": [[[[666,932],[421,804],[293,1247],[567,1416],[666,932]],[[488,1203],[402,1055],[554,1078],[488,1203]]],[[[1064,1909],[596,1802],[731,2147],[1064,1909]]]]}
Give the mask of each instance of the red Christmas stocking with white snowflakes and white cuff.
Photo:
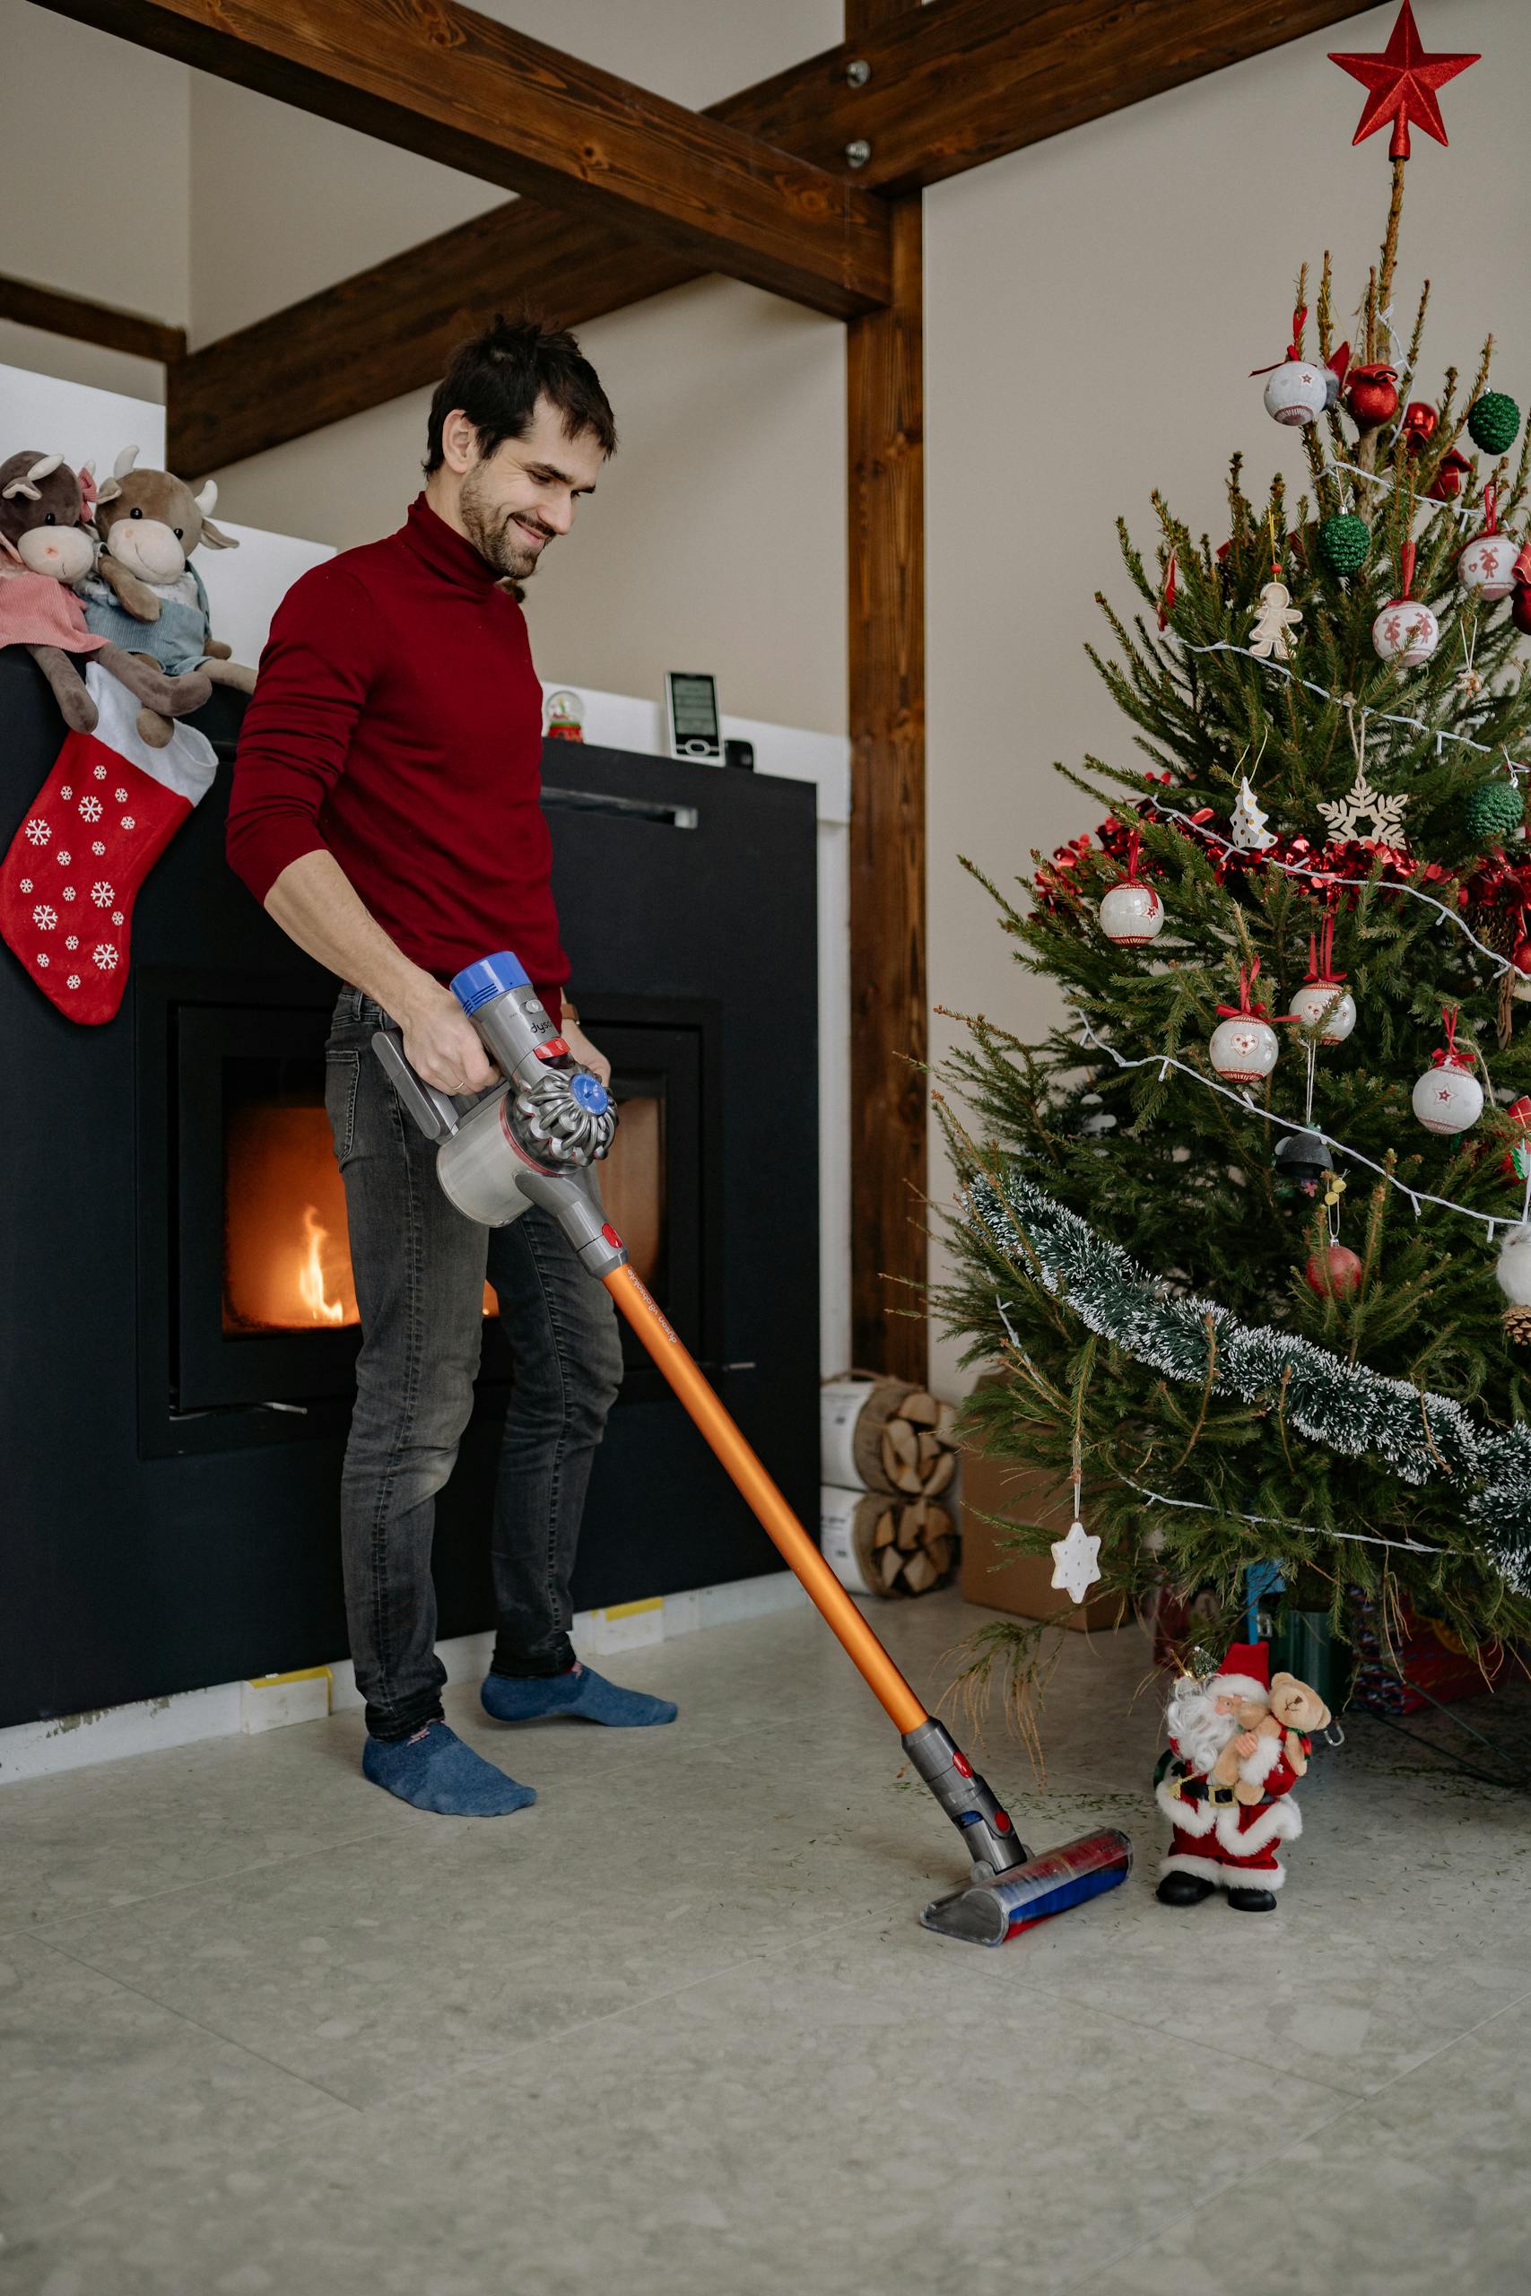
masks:
{"type": "Polygon", "coordinates": [[[0,863],[0,934],[69,1019],[122,1003],[138,889],[218,771],[207,735],[140,737],[138,700],[92,664],[94,732],[64,735],[53,771],[0,863]]]}

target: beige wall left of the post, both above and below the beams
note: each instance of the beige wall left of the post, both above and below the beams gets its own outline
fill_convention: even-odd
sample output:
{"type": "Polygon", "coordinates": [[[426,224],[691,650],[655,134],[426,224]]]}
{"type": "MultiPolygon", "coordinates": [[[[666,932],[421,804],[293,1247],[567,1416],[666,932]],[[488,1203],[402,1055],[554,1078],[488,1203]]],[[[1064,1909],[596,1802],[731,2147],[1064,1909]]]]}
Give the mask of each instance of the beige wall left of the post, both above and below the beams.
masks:
{"type": "MultiPolygon", "coordinates": [[[[691,106],[840,37],[840,0],[500,0],[491,14],[691,106]]],[[[202,342],[505,197],[202,76],[193,179],[202,342]]],[[[842,732],[845,331],[700,280],[581,342],[622,452],[530,592],[537,661],[620,693],[656,693],[666,668],[693,664],[739,716],[842,732]]],[[[418,487],[427,404],[411,393],[220,471],[227,514],[340,546],[386,533],[418,487]]]]}

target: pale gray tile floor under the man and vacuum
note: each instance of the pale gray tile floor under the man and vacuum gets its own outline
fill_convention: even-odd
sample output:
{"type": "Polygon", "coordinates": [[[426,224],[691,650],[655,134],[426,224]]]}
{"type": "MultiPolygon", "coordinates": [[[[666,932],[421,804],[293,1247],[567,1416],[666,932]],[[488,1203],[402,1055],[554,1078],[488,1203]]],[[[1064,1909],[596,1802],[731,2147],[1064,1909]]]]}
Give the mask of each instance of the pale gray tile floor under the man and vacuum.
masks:
{"type": "MultiPolygon", "coordinates": [[[[879,1612],[934,1697],[978,1621],[879,1612]]],[[[1357,1722],[1276,1915],[1152,1901],[1136,1630],[1067,1637],[1033,1846],[1138,1871],[1001,1952],[810,1612],[634,1653],[668,1731],[360,1720],[0,1789],[5,2296],[1499,2296],[1531,2285],[1531,1802],[1357,1722]]],[[[1531,1701],[1474,1720],[1531,1743],[1531,1701]]]]}

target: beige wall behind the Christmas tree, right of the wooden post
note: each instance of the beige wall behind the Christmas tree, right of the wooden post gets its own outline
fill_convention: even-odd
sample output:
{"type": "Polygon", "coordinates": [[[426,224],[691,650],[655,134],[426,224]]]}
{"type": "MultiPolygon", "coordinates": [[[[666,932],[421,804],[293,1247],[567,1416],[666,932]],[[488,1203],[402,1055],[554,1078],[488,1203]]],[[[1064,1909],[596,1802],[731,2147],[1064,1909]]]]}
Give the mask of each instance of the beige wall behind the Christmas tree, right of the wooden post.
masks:
{"type": "MultiPolygon", "coordinates": [[[[1329,48],[1382,48],[1396,7],[1237,64],[1113,119],[994,161],[925,200],[930,489],[930,985],[1021,1033],[1049,994],[1010,957],[957,854],[1008,882],[1033,845],[1104,808],[1049,771],[1083,751],[1132,762],[1132,730],[1083,659],[1093,604],[1132,604],[1113,521],[1155,535],[1150,489],[1194,533],[1226,533],[1223,471],[1299,489],[1297,434],[1249,370],[1288,340],[1292,280],[1336,255],[1350,310],[1386,216],[1386,133],[1352,149],[1361,87],[1329,48]]],[[[1430,0],[1428,48],[1485,62],[1441,96],[1451,149],[1414,135],[1400,294],[1432,280],[1425,372],[1494,372],[1531,402],[1526,202],[1531,9],[1430,0]]],[[[937,1045],[950,1042],[934,1022],[937,1045]]],[[[932,1189],[946,1169],[932,1141],[932,1189]]],[[[955,1391],[955,1350],[937,1355],[955,1391]]]]}

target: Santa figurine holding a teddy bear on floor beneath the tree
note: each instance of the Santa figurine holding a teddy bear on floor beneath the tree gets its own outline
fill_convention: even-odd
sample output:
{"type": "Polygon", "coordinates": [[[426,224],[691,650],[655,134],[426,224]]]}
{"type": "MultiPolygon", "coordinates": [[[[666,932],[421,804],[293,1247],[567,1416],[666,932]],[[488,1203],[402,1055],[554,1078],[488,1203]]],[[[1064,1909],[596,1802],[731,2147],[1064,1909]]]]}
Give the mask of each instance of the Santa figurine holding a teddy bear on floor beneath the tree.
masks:
{"type": "Polygon", "coordinates": [[[1235,1913],[1276,1910],[1285,1880],[1276,1848],[1297,1839],[1301,1812],[1285,1738],[1258,1733],[1269,1697],[1262,1642],[1235,1642],[1214,1674],[1182,1674],[1175,1683],[1164,1717],[1171,1743],[1155,1773],[1155,1800],[1175,1828],[1157,1890],[1161,1906],[1200,1906],[1226,1890],[1235,1913]],[[1212,1779],[1230,1740],[1239,1775],[1258,1779],[1253,1802],[1212,1779]]]}

